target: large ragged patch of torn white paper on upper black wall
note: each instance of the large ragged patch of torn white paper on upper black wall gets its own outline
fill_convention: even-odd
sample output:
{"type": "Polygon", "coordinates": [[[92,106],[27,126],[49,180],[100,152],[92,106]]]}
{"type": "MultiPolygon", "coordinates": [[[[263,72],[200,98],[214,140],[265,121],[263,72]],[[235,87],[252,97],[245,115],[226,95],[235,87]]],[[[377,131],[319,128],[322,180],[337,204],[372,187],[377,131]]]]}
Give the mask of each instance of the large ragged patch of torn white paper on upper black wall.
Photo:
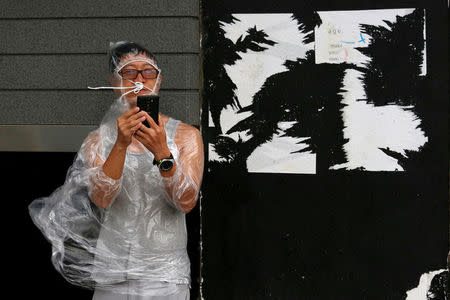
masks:
{"type": "Polygon", "coordinates": [[[251,173],[314,174],[322,152],[331,170],[404,171],[421,151],[424,10],[319,11],[317,20],[314,39],[296,14],[220,23],[233,100],[210,102],[211,161],[237,151],[251,173]]]}

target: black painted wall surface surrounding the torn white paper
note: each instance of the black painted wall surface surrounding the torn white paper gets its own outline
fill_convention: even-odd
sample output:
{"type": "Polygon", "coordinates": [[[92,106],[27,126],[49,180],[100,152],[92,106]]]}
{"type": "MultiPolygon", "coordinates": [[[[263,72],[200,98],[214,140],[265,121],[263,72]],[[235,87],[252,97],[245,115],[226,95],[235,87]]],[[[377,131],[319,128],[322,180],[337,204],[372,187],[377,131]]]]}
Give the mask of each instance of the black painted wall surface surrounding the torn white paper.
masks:
{"type": "MultiPolygon", "coordinates": [[[[447,25],[446,1],[203,2],[204,136],[216,150],[220,148],[228,155],[226,162],[207,165],[203,184],[205,299],[404,299],[406,291],[418,285],[421,274],[446,268],[447,25]],[[420,157],[414,158],[405,172],[328,170],[331,164],[339,162],[333,158],[340,159],[339,153],[327,147],[334,145],[333,141],[342,143],[340,130],[336,130],[342,124],[339,125],[340,117],[327,119],[336,117],[339,107],[325,106],[324,111],[331,111],[330,114],[317,120],[307,119],[308,124],[319,124],[311,130],[310,144],[317,151],[317,174],[248,173],[245,158],[255,145],[221,137],[216,123],[221,109],[238,106],[231,91],[233,82],[223,64],[239,59],[233,52],[238,46],[220,37],[217,21],[230,22],[231,13],[295,11],[310,21],[307,25],[314,25],[314,18],[308,19],[314,10],[383,8],[426,9],[428,75],[420,90],[424,94],[417,96],[425,99],[418,109],[430,141],[420,157]],[[214,124],[208,121],[208,111],[214,124]]],[[[258,43],[264,46],[267,41],[259,39],[258,43]]],[[[339,74],[339,67],[329,68],[339,74]]],[[[321,81],[311,87],[315,79],[326,78],[319,76],[318,69],[308,69],[305,77],[309,78],[302,80],[310,81],[299,89],[294,79],[284,77],[279,81],[282,88],[275,95],[284,97],[285,93],[283,99],[288,101],[291,90],[299,93],[314,88],[317,91],[311,93],[323,95],[327,91],[318,91],[321,81]]],[[[395,74],[394,70],[390,74],[395,74]]],[[[271,77],[274,82],[277,75],[271,77]]],[[[395,76],[402,80],[399,74],[395,76]]],[[[270,88],[275,86],[268,82],[270,88]]],[[[415,95],[416,90],[410,92],[415,95]]],[[[262,97],[263,89],[253,98],[252,107],[241,109],[254,109],[255,118],[260,119],[249,118],[247,123],[236,126],[240,126],[239,130],[253,130],[253,137],[264,140],[262,132],[271,130],[271,118],[275,118],[278,108],[276,104],[258,107],[257,101],[262,97]]],[[[332,99],[335,103],[340,101],[332,99]]],[[[308,128],[300,129],[308,132],[308,128]]]]}

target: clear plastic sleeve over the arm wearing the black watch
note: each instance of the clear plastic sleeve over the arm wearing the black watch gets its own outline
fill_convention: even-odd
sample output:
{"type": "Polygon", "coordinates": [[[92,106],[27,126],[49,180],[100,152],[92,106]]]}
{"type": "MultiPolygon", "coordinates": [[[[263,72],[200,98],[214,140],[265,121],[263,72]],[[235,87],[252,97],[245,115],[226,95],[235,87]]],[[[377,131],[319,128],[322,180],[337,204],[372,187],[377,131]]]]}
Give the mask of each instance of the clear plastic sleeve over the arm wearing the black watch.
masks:
{"type": "Polygon", "coordinates": [[[204,154],[200,132],[180,123],[175,135],[179,155],[174,156],[176,169],[171,177],[162,177],[169,203],[183,212],[196,204],[203,177],[204,154]]]}

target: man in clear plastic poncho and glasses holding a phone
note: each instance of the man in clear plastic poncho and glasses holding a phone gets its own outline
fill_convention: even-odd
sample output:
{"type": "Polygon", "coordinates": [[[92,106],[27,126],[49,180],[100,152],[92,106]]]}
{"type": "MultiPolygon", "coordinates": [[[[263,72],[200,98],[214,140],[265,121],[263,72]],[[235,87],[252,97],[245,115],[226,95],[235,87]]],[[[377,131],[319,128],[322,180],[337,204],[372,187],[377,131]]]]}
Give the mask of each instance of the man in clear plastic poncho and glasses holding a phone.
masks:
{"type": "Polygon", "coordinates": [[[158,125],[136,106],[137,96],[157,94],[162,82],[147,49],[114,44],[110,69],[119,98],[83,142],[61,192],[35,201],[30,213],[54,246],[55,267],[70,282],[95,287],[94,300],[189,299],[185,214],[202,180],[201,135],[161,114],[158,125]],[[68,238],[75,250],[61,246],[68,238]]]}

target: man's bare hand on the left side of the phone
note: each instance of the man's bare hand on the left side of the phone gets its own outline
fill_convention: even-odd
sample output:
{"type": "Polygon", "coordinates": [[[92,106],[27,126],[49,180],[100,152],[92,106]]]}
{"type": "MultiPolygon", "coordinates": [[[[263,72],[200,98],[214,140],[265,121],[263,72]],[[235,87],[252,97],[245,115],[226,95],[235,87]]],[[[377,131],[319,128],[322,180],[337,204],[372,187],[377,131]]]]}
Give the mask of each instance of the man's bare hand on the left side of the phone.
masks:
{"type": "Polygon", "coordinates": [[[117,118],[117,141],[116,144],[127,148],[131,144],[132,136],[145,120],[145,112],[139,111],[138,107],[132,108],[117,118]]]}

